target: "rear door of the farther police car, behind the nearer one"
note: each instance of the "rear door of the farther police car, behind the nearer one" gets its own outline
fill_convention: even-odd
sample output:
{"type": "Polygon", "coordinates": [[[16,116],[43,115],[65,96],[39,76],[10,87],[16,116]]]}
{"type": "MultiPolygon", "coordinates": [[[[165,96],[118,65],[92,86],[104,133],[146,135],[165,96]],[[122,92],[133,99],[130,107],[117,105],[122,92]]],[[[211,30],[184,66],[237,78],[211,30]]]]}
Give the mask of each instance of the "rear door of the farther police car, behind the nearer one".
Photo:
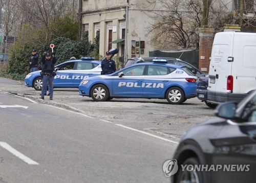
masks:
{"type": "Polygon", "coordinates": [[[100,75],[100,71],[97,69],[98,66],[99,64],[93,62],[76,62],[73,72],[73,86],[78,87],[83,79],[100,75]]]}

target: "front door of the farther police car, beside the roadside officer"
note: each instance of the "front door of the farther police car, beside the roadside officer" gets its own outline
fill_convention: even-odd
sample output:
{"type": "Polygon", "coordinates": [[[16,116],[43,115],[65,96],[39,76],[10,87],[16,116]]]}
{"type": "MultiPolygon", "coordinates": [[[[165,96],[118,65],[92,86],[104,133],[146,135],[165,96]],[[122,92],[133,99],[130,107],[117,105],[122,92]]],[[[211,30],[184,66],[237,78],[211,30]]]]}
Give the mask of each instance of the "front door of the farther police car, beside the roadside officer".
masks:
{"type": "MultiPolygon", "coordinates": [[[[58,65],[56,76],[53,80],[54,87],[73,87],[73,74],[75,62],[58,65]]],[[[56,68],[55,68],[56,69],[56,68]]]]}

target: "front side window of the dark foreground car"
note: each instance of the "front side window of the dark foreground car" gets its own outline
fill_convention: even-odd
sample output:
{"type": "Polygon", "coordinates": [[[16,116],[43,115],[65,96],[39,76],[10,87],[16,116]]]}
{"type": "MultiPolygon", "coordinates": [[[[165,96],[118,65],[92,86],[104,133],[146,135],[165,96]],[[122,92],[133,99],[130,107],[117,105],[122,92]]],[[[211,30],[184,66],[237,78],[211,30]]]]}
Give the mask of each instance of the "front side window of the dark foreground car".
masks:
{"type": "Polygon", "coordinates": [[[246,122],[256,122],[256,96],[246,104],[241,118],[246,122]]]}

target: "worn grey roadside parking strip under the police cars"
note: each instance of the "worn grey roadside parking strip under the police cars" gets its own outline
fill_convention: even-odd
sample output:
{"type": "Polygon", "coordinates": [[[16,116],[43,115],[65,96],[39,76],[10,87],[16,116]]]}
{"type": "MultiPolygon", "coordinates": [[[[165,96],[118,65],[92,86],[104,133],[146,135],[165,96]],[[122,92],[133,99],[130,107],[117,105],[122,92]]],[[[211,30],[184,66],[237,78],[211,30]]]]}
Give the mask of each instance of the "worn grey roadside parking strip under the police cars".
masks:
{"type": "Polygon", "coordinates": [[[40,100],[40,91],[25,86],[24,81],[0,78],[0,83],[2,91],[159,135],[177,143],[189,127],[214,117],[214,110],[197,98],[188,99],[181,105],[171,105],[160,99],[112,99],[108,102],[94,102],[89,97],[79,96],[77,88],[54,88],[53,100],[50,101],[49,96],[40,100]]]}

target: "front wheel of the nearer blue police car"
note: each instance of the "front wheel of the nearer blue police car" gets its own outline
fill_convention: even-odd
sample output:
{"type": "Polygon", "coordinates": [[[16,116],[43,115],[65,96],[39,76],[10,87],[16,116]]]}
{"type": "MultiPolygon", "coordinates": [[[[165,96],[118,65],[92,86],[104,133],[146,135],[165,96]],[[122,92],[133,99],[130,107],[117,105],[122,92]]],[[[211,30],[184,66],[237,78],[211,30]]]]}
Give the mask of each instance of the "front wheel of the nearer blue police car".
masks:
{"type": "Polygon", "coordinates": [[[96,84],[91,89],[91,97],[94,101],[106,101],[109,99],[109,89],[103,84],[96,84]]]}

